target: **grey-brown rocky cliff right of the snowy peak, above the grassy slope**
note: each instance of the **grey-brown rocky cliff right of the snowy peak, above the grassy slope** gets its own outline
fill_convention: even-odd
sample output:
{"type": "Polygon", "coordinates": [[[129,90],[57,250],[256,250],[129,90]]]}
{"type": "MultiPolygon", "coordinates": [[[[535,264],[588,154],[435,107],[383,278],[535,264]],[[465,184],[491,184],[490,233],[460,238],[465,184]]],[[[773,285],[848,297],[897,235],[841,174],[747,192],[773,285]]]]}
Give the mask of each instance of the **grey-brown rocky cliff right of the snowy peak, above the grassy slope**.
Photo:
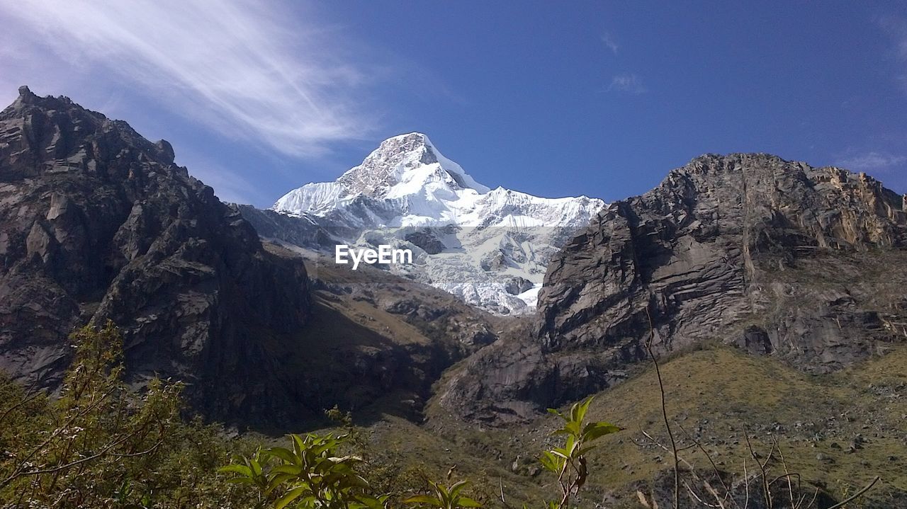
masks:
{"type": "Polygon", "coordinates": [[[480,351],[439,400],[522,420],[623,379],[650,323],[661,354],[723,341],[822,372],[883,353],[907,335],[905,219],[863,174],[696,158],[603,210],[549,265],[535,338],[480,351]]]}

